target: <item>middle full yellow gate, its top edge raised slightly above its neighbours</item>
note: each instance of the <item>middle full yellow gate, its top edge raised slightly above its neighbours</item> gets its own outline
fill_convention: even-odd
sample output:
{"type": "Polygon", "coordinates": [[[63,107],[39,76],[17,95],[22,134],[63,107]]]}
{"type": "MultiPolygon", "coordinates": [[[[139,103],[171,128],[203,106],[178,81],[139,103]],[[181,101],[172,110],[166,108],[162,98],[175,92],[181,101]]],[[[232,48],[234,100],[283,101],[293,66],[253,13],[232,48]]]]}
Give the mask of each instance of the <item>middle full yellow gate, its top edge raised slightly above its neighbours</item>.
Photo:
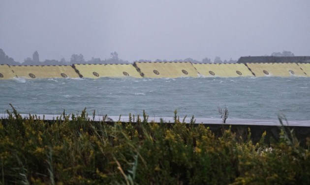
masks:
{"type": "Polygon", "coordinates": [[[135,62],[134,65],[145,78],[198,77],[190,62],[135,62]]]}

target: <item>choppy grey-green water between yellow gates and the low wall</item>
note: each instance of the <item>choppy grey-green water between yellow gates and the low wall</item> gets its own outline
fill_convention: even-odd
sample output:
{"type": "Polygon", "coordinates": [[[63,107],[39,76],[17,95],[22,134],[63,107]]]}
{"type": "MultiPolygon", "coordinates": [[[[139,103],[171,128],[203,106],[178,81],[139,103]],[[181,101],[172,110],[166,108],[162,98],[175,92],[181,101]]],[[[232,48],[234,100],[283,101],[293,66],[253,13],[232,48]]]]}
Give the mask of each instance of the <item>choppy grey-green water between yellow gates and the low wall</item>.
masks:
{"type": "Polygon", "coordinates": [[[310,120],[310,78],[10,79],[0,80],[0,114],[142,114],[310,120]]]}

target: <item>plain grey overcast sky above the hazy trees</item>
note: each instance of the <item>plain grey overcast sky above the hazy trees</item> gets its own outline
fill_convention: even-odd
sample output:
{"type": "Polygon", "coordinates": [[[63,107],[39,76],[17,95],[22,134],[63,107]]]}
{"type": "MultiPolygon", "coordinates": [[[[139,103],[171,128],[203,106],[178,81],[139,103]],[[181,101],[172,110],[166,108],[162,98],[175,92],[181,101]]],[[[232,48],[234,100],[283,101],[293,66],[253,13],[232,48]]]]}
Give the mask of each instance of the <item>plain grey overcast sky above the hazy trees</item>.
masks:
{"type": "Polygon", "coordinates": [[[310,0],[0,0],[0,48],[19,62],[310,55],[310,0]]]}

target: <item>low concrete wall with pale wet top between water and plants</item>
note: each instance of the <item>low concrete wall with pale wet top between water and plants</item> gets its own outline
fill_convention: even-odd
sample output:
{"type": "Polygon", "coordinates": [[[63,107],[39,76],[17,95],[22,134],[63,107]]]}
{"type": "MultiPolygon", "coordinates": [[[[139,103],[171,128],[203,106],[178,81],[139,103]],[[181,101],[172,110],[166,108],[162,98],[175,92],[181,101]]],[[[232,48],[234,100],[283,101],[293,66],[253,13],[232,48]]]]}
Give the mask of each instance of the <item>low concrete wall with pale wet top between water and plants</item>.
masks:
{"type": "MultiPolygon", "coordinates": [[[[45,122],[54,123],[55,120],[62,120],[63,115],[30,115],[30,114],[20,114],[23,119],[35,119],[35,120],[43,120],[45,122]]],[[[137,118],[137,116],[136,116],[137,118]]],[[[143,118],[141,118],[143,119],[143,118]]],[[[0,115],[0,120],[2,122],[6,122],[8,120],[8,115],[0,115]]],[[[69,117],[69,120],[71,118],[69,117]]],[[[97,123],[107,123],[107,124],[115,124],[122,123],[124,126],[129,122],[133,124],[143,124],[137,123],[137,120],[130,120],[128,116],[88,116],[86,120],[90,120],[91,122],[97,123]]],[[[182,120],[181,120],[182,121],[182,120]]],[[[284,121],[284,120],[283,120],[284,121]]],[[[141,122],[141,120],[140,120],[141,122]]],[[[230,129],[232,132],[235,132],[238,138],[242,137],[243,139],[248,138],[250,133],[250,138],[254,143],[258,142],[262,134],[266,132],[266,141],[271,143],[273,141],[279,140],[279,133],[281,131],[286,131],[290,133],[293,131],[294,135],[300,142],[301,146],[306,147],[307,137],[310,135],[310,120],[304,121],[289,121],[283,122],[280,124],[279,120],[264,120],[264,119],[227,119],[226,123],[223,124],[220,118],[194,118],[194,124],[190,124],[190,118],[184,119],[184,124],[186,127],[197,126],[198,124],[203,124],[205,127],[209,127],[209,129],[214,132],[216,135],[221,135],[223,130],[230,129]]],[[[172,117],[149,117],[148,123],[161,123],[169,126],[173,126],[175,124],[175,120],[172,117]]],[[[291,135],[289,135],[291,136],[291,135]]]]}

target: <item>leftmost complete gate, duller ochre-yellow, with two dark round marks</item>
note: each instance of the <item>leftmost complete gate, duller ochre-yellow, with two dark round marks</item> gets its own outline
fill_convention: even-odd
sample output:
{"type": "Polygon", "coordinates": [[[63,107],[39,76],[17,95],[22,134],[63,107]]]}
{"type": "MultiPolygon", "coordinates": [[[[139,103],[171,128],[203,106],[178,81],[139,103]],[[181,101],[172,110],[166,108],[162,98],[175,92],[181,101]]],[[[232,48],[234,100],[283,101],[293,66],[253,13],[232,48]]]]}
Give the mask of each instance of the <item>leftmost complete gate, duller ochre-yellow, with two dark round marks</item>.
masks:
{"type": "Polygon", "coordinates": [[[25,79],[79,78],[69,65],[11,66],[16,77],[25,79]]]}

